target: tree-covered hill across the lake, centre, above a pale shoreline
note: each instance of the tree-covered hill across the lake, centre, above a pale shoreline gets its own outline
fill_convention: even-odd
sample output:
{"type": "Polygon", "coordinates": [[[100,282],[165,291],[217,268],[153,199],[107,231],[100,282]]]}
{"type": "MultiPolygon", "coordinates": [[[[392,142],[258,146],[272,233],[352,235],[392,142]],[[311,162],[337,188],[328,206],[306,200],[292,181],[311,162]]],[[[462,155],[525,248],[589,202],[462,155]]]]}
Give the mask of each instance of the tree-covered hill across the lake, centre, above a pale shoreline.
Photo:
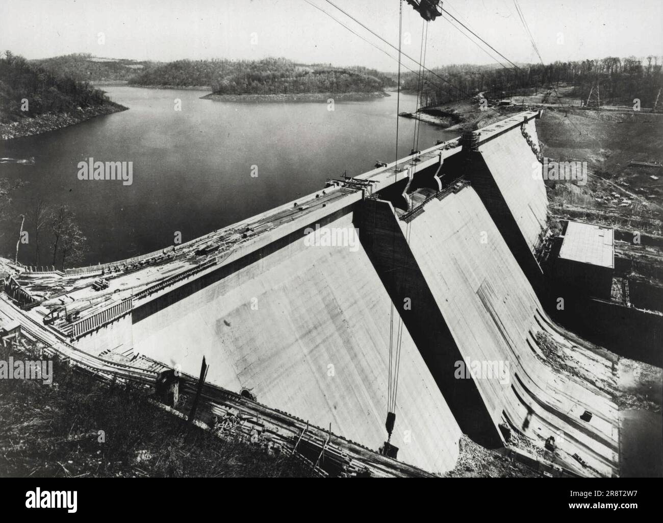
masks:
{"type": "Polygon", "coordinates": [[[178,60],[137,74],[129,84],[211,86],[215,94],[369,93],[396,86],[390,76],[364,67],[302,65],[284,58],[178,60]]]}

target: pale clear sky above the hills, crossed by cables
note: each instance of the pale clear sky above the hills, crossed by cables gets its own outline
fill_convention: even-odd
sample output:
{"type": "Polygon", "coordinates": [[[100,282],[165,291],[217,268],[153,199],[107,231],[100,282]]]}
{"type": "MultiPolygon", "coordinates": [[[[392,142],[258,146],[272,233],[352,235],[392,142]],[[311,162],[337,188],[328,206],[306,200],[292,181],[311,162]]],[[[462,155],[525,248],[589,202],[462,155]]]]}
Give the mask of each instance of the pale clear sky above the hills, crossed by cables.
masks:
{"type": "MultiPolygon", "coordinates": [[[[398,46],[398,0],[332,1],[398,46]]],[[[663,54],[661,0],[517,1],[546,63],[663,54]]],[[[402,5],[402,51],[418,58],[423,21],[402,5]]],[[[512,62],[538,62],[514,0],[446,0],[444,8],[512,62]]],[[[508,65],[454,24],[438,18],[428,25],[426,66],[508,65]]],[[[158,61],[284,56],[384,71],[398,65],[396,50],[327,0],[1,0],[0,50],[7,49],[29,59],[89,52],[158,61]]]]}

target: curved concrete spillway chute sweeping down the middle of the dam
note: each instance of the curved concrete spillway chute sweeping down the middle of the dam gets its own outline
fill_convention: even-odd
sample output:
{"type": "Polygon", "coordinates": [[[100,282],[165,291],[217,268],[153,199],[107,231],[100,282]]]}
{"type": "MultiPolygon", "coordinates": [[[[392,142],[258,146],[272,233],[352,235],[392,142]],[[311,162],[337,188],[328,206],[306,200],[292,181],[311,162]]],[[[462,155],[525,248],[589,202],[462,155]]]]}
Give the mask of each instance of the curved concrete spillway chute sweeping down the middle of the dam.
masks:
{"type": "MultiPolygon", "coordinates": [[[[398,220],[398,226],[405,236],[407,225],[398,220]]],[[[438,383],[471,380],[495,429],[510,423],[523,450],[544,455],[544,442],[553,436],[558,451],[549,458],[564,468],[579,475],[615,474],[611,364],[540,327],[536,294],[475,190],[432,198],[409,227],[409,270],[420,274],[418,286],[430,291],[452,335],[442,350],[453,357],[440,360],[444,368],[431,368],[438,383]],[[558,361],[563,358],[570,362],[566,367],[558,361]],[[463,375],[458,368],[471,371],[463,375]],[[597,384],[579,379],[583,373],[597,376],[597,384]],[[593,413],[589,422],[581,419],[585,410],[593,413]]],[[[445,397],[461,429],[472,435],[461,413],[466,405],[448,390],[445,397]]]]}

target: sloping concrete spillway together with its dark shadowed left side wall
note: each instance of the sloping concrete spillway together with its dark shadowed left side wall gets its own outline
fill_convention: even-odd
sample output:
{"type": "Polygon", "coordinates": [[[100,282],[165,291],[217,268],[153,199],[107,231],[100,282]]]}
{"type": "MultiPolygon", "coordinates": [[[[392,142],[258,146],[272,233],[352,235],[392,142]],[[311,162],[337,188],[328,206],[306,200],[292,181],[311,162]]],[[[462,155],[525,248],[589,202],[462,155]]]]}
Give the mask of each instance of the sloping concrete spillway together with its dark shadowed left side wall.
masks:
{"type": "MultiPolygon", "coordinates": [[[[384,213],[378,218],[368,212],[365,216],[367,226],[377,223],[374,234],[388,231],[385,220],[384,213]]],[[[488,425],[497,430],[501,421],[508,420],[516,431],[540,444],[549,435],[559,441],[562,431],[565,466],[573,469],[577,462],[570,456],[578,453],[593,473],[612,475],[617,467],[617,406],[601,390],[544,363],[546,356],[535,338],[538,331],[570,352],[581,351],[549,326],[534,290],[475,190],[465,188],[441,201],[431,200],[410,224],[399,220],[398,228],[395,240],[389,242],[389,234],[384,234],[379,244],[371,246],[371,256],[378,260],[383,283],[395,288],[391,292],[396,303],[402,295],[412,295],[413,313],[404,315],[404,320],[461,428],[478,439],[491,435],[488,425]],[[402,278],[398,267],[410,275],[402,278]],[[394,283],[390,283],[391,269],[398,275],[394,283]],[[422,325],[424,318],[428,325],[422,325]],[[420,329],[439,334],[425,340],[420,329]],[[508,362],[509,381],[457,379],[454,363],[467,357],[508,362]],[[481,398],[478,408],[474,408],[474,389],[481,398]],[[464,394],[459,394],[461,390],[464,394]],[[579,419],[584,410],[594,413],[592,423],[579,419]]],[[[597,375],[611,376],[609,362],[585,356],[597,375]]],[[[587,474],[581,467],[577,472],[587,474]]]]}

